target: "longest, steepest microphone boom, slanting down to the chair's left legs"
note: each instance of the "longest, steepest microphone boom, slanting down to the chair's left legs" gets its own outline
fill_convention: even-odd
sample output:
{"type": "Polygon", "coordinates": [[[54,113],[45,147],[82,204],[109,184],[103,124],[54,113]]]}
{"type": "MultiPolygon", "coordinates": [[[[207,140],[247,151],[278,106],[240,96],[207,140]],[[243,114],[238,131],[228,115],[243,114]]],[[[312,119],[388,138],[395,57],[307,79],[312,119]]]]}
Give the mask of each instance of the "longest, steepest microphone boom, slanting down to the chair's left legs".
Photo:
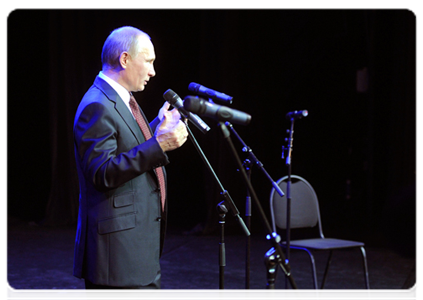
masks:
{"type": "MultiPolygon", "coordinates": [[[[299,292],[299,290],[297,288],[297,285],[296,285],[296,283],[294,281],[294,278],[292,277],[291,267],[289,266],[289,263],[287,263],[285,261],[285,256],[284,256],[284,254],[282,252],[281,246],[279,245],[280,236],[278,236],[276,234],[276,232],[273,232],[272,231],[272,228],[270,227],[269,221],[266,218],[266,215],[265,215],[265,213],[263,211],[263,208],[261,207],[261,204],[260,204],[260,202],[258,200],[258,197],[257,197],[255,191],[254,191],[254,188],[253,188],[251,182],[248,179],[247,172],[242,167],[241,160],[239,159],[239,156],[238,156],[238,154],[236,152],[236,149],[235,149],[235,147],[234,147],[234,145],[232,143],[232,140],[231,140],[231,137],[230,137],[230,132],[229,132],[228,128],[226,127],[226,125],[223,122],[219,122],[219,126],[220,126],[220,128],[222,130],[224,139],[228,142],[228,145],[231,148],[231,151],[232,151],[232,153],[234,155],[234,158],[235,158],[235,160],[236,160],[236,162],[237,162],[237,164],[239,166],[239,170],[241,171],[241,174],[242,174],[242,176],[244,178],[245,184],[247,185],[247,187],[248,187],[248,189],[250,191],[250,194],[251,194],[251,196],[252,196],[252,198],[254,200],[254,203],[256,204],[256,206],[257,206],[257,208],[259,210],[259,213],[260,213],[260,216],[262,218],[262,221],[263,221],[263,223],[264,223],[267,231],[269,232],[269,234],[267,235],[267,238],[272,241],[273,247],[274,247],[275,252],[276,252],[276,255],[272,255],[272,257],[274,258],[275,262],[272,263],[271,265],[278,264],[281,267],[281,269],[285,273],[286,278],[288,278],[289,279],[289,282],[291,283],[291,286],[292,286],[292,289],[294,290],[295,296],[297,297],[297,299],[302,299],[302,297],[300,295],[300,292],[299,292]]],[[[271,291],[271,289],[270,289],[270,291],[271,291]]],[[[273,291],[274,291],[274,289],[273,289],[273,291]]],[[[268,295],[267,298],[268,299],[274,299],[274,294],[273,295],[268,295]]]]}

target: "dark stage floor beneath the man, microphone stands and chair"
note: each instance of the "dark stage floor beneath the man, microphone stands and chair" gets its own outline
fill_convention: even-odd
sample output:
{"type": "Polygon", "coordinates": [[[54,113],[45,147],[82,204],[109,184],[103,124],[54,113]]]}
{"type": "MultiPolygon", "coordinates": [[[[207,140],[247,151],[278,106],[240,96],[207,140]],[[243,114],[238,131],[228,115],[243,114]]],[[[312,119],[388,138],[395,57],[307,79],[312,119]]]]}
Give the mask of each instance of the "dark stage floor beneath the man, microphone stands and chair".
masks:
{"type": "MultiPolygon", "coordinates": [[[[43,227],[6,217],[6,299],[85,299],[84,282],[72,276],[72,227],[43,227]]],[[[335,237],[335,236],[331,236],[335,237]]],[[[219,235],[193,236],[170,230],[161,259],[162,299],[219,298],[219,235]]],[[[225,299],[245,299],[245,237],[228,234],[225,299]]],[[[271,248],[264,236],[251,238],[250,299],[266,299],[264,254],[271,248]]],[[[420,259],[385,247],[366,246],[373,300],[419,299],[420,259]]],[[[319,280],[326,253],[316,253],[319,280]]],[[[291,253],[293,278],[303,299],[314,299],[307,254],[291,253]]],[[[285,279],[278,270],[276,299],[284,299],[285,279]]],[[[365,299],[359,250],[336,251],[323,299],[365,299]]],[[[289,299],[295,299],[290,293],[289,299]]]]}

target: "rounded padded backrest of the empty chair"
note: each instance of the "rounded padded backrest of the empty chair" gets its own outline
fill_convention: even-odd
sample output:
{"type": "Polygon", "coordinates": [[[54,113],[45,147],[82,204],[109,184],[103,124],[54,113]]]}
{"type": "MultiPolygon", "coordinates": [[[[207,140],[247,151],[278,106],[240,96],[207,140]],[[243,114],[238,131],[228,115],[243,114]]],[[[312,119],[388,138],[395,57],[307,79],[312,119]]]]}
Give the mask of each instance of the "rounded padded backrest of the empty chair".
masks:
{"type": "MultiPolygon", "coordinates": [[[[280,189],[285,193],[281,197],[272,188],[270,193],[270,211],[272,216],[273,230],[276,232],[276,226],[281,229],[286,229],[286,204],[287,204],[287,181],[288,176],[285,176],[277,181],[280,189]]],[[[316,192],[310,183],[304,178],[291,175],[290,185],[291,195],[291,222],[290,228],[306,228],[319,226],[319,234],[323,238],[323,232],[320,222],[319,201],[316,192]]]]}

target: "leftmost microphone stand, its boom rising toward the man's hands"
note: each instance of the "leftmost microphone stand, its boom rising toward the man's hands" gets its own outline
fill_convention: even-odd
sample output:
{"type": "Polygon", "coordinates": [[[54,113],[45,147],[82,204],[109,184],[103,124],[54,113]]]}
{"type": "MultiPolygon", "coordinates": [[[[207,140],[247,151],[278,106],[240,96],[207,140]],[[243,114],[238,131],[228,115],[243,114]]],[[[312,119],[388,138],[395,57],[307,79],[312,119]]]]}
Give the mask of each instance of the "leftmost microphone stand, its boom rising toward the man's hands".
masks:
{"type": "Polygon", "coordinates": [[[248,230],[247,226],[245,226],[244,221],[239,216],[239,210],[236,207],[235,203],[233,202],[231,196],[229,195],[228,191],[226,191],[221,184],[219,178],[217,177],[216,173],[214,172],[212,166],[210,165],[206,155],[204,154],[203,150],[201,149],[200,145],[198,145],[197,140],[195,139],[194,135],[191,132],[188,124],[185,123],[188,131],[189,138],[191,139],[192,143],[194,144],[195,148],[197,149],[198,153],[200,154],[201,159],[203,160],[204,164],[206,165],[207,169],[212,174],[212,177],[215,179],[217,185],[221,189],[221,195],[223,201],[220,202],[217,206],[219,212],[219,224],[221,229],[221,239],[219,243],[219,300],[224,299],[224,268],[226,265],[226,257],[225,257],[225,241],[224,241],[224,225],[225,225],[225,215],[228,210],[232,212],[234,217],[237,219],[239,225],[241,226],[242,230],[244,231],[246,236],[250,235],[250,231],[248,230]]]}

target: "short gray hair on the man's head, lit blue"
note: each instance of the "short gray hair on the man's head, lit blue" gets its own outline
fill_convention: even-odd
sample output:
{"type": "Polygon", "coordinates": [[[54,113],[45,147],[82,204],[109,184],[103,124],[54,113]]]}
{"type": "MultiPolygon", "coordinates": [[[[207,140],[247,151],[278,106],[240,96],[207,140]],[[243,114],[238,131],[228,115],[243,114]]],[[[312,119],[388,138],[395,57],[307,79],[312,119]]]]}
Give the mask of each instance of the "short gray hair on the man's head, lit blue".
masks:
{"type": "Polygon", "coordinates": [[[139,36],[150,36],[138,28],[124,26],[113,30],[107,37],[101,52],[101,63],[103,69],[116,69],[119,67],[119,57],[122,52],[128,52],[132,57],[136,57],[141,51],[139,36]]]}

